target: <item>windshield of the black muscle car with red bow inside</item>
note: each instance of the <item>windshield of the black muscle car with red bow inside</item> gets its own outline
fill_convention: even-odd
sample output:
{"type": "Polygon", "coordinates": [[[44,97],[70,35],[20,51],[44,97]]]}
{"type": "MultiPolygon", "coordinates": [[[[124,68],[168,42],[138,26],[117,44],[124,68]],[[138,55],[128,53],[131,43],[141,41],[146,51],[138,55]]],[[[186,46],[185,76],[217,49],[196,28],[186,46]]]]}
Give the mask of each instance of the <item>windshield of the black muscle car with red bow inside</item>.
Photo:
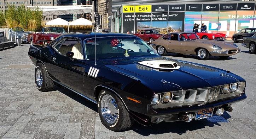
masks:
{"type": "Polygon", "coordinates": [[[87,59],[132,57],[132,56],[159,56],[148,44],[139,38],[106,37],[85,40],[87,59]]]}

